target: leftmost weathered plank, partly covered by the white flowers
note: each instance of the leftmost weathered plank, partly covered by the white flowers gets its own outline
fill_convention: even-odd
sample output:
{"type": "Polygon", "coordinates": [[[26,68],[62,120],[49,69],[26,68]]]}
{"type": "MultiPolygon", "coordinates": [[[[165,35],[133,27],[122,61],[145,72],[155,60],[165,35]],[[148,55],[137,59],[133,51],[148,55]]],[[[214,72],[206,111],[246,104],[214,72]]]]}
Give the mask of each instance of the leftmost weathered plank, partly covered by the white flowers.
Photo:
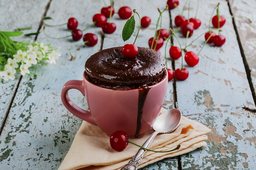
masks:
{"type": "MultiPolygon", "coordinates": [[[[25,33],[36,32],[40,19],[45,12],[47,1],[39,0],[28,2],[27,0],[0,0],[0,30],[14,31],[16,28],[32,27],[32,30],[24,30],[25,33]],[[35,8],[36,7],[36,8],[35,8]],[[19,9],[23,9],[19,10],[19,9]]],[[[32,41],[35,37],[12,37],[13,40],[32,41]]],[[[14,81],[0,82],[0,127],[3,126],[4,117],[7,114],[9,105],[17,88],[20,75],[14,81]]]]}

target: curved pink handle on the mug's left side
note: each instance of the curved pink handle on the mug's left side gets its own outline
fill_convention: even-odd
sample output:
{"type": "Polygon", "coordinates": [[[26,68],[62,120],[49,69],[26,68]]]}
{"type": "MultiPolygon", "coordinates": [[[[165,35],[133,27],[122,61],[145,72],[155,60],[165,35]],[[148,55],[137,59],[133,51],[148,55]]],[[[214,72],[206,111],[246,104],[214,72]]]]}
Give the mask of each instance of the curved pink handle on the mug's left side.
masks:
{"type": "Polygon", "coordinates": [[[62,103],[66,107],[66,109],[69,110],[73,115],[77,116],[80,119],[83,119],[84,121],[87,121],[89,123],[95,124],[94,119],[92,118],[92,114],[90,111],[86,111],[84,109],[81,109],[77,105],[75,105],[69,98],[68,91],[70,89],[77,89],[79,90],[83,96],[85,96],[85,90],[83,87],[83,81],[81,80],[69,80],[66,82],[62,88],[61,92],[61,98],[62,98],[62,103]]]}

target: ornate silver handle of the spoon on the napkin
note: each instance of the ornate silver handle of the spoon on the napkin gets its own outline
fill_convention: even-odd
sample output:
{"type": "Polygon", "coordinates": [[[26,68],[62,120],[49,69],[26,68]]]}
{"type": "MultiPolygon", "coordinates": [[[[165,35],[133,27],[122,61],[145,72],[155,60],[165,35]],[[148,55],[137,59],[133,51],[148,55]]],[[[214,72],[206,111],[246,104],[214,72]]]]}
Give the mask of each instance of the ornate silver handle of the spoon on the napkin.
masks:
{"type": "MultiPolygon", "coordinates": [[[[158,134],[158,131],[155,131],[152,133],[149,138],[146,140],[146,142],[142,145],[142,147],[148,148],[151,142],[153,141],[154,137],[158,134]]],[[[144,149],[139,149],[136,155],[131,158],[128,164],[124,165],[121,170],[137,170],[137,165],[140,163],[142,160],[142,156],[144,155],[145,150],[144,149]]]]}

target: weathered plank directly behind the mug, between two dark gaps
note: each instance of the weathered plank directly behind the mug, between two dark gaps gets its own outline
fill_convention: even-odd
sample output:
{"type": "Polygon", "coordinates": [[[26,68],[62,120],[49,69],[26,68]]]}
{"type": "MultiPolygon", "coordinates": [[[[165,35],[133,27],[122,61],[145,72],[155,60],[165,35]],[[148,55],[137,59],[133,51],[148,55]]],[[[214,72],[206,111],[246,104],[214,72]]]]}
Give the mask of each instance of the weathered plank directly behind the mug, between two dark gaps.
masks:
{"type": "MultiPolygon", "coordinates": [[[[165,1],[154,1],[154,0],[147,0],[147,1],[136,1],[136,3],[127,3],[126,1],[115,1],[115,10],[118,11],[118,9],[122,6],[130,6],[131,9],[136,9],[136,11],[140,14],[140,17],[142,18],[143,16],[149,16],[152,20],[152,23],[156,23],[158,17],[159,17],[159,12],[157,10],[157,7],[159,7],[161,10],[164,10],[166,7],[166,2],[165,1]],[[147,4],[147,5],[145,5],[147,4]]],[[[138,26],[139,26],[139,19],[135,15],[135,21],[136,21],[136,26],[135,26],[135,32],[133,36],[127,41],[123,42],[121,33],[123,26],[126,22],[126,20],[120,20],[119,16],[115,14],[113,18],[111,19],[112,22],[116,23],[116,31],[113,34],[105,34],[104,37],[104,42],[103,42],[103,49],[111,48],[111,47],[119,47],[123,46],[124,44],[132,44],[133,41],[135,40],[135,36],[137,34],[138,26]]],[[[163,13],[162,16],[162,27],[163,28],[170,28],[170,16],[169,12],[166,11],[163,13]]],[[[155,25],[150,25],[148,28],[142,28],[140,29],[140,33],[137,37],[137,40],[135,44],[138,47],[145,47],[149,48],[148,46],[148,40],[151,37],[154,37],[155,33],[155,25]]],[[[159,51],[161,51],[161,54],[164,56],[164,48],[165,44],[159,51]]],[[[168,43],[167,46],[167,54],[169,53],[168,49],[170,48],[170,44],[168,43]]],[[[168,67],[171,68],[171,59],[168,58],[168,67]]],[[[166,93],[166,99],[164,102],[164,107],[167,109],[173,108],[173,84],[172,81],[168,83],[168,88],[167,88],[167,93],[166,93]]],[[[159,161],[157,163],[154,163],[152,165],[148,165],[144,168],[141,168],[141,170],[154,170],[154,169],[166,169],[166,168],[171,168],[172,170],[175,170],[178,168],[177,165],[177,160],[176,158],[167,158],[164,159],[163,161],[159,161]]]]}

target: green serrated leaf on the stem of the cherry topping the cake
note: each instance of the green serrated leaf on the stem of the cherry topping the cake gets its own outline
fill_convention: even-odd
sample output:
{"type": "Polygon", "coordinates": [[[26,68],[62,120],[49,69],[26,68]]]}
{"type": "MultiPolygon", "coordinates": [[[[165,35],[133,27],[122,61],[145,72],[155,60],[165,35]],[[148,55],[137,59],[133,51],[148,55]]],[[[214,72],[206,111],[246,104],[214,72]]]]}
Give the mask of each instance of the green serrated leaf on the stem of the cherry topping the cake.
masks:
{"type": "Polygon", "coordinates": [[[130,19],[126,21],[126,23],[123,26],[122,38],[124,42],[126,40],[129,40],[129,38],[133,35],[134,29],[135,29],[135,19],[134,19],[134,16],[132,16],[130,19]]]}

